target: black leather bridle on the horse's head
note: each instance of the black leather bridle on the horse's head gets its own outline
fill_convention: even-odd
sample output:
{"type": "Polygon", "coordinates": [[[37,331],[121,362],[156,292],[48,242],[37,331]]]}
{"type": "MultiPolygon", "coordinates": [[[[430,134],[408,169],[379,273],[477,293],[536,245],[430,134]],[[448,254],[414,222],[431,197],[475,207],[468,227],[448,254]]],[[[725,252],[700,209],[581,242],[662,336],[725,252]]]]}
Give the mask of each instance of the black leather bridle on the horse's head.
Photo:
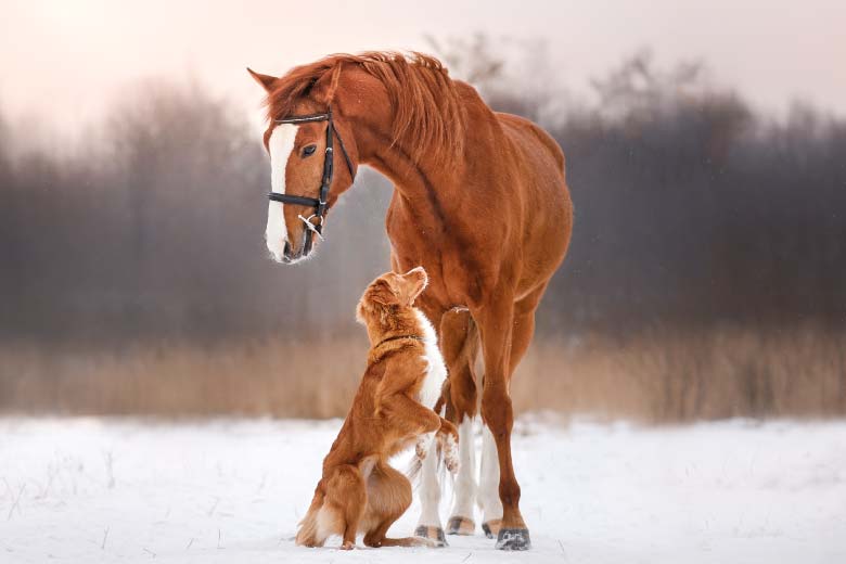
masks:
{"type": "Polygon", "coordinates": [[[350,161],[349,154],[347,153],[347,148],[344,146],[344,141],[341,139],[341,134],[337,132],[332,121],[332,107],[330,107],[325,114],[290,116],[282,119],[274,119],[273,121],[275,124],[310,124],[312,121],[329,121],[329,125],[326,125],[326,151],[323,157],[323,177],[320,181],[320,196],[296,196],[290,194],[279,194],[277,192],[270,192],[267,195],[267,197],[273,202],[315,208],[315,213],[308,217],[303,217],[302,215],[297,216],[304,223],[306,223],[306,227],[308,228],[306,231],[306,242],[303,246],[303,254],[308,255],[311,252],[312,234],[317,234],[321,241],[323,240],[323,219],[325,218],[326,210],[329,209],[326,201],[329,200],[329,189],[332,185],[332,175],[334,172],[333,141],[335,137],[337,137],[341,151],[344,153],[344,161],[346,161],[347,168],[349,169],[349,176],[354,181],[356,179],[356,172],[352,168],[352,161],[350,161]],[[311,218],[313,217],[318,218],[318,225],[311,222],[311,218]]]}

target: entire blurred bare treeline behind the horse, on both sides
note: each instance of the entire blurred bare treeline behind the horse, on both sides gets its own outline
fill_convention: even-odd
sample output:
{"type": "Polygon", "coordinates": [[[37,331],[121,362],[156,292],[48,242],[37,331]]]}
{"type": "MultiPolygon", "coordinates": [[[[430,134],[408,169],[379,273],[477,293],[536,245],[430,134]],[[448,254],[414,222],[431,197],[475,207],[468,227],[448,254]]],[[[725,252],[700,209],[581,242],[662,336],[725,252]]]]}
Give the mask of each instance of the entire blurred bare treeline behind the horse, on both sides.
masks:
{"type": "MultiPolygon", "coordinates": [[[[483,70],[489,102],[540,120],[567,156],[576,225],[541,334],[844,324],[845,120],[800,105],[771,119],[698,66],[645,55],[564,110],[563,93],[483,70]]],[[[0,125],[7,342],[332,336],[388,266],[375,174],[316,259],[272,264],[260,138],[201,88],[140,85],[86,139],[72,157],[21,155],[0,125]]]]}

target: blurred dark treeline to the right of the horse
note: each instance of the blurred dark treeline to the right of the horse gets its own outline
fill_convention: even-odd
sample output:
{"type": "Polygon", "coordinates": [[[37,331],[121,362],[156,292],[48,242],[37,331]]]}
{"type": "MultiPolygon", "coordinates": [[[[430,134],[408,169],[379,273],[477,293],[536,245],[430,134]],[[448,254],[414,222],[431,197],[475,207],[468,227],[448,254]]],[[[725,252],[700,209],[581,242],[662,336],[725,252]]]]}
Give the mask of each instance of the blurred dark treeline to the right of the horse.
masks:
{"type": "Polygon", "coordinates": [[[846,120],[783,121],[636,56],[554,134],[577,209],[555,323],[846,324],[846,120]]]}

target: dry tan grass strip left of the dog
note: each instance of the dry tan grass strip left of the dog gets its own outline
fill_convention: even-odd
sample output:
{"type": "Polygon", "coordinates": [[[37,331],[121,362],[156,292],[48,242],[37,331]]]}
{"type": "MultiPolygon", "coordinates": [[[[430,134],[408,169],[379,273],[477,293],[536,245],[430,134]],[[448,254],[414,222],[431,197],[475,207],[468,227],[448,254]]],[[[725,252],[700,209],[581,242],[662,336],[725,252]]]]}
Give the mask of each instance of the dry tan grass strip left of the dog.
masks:
{"type": "Polygon", "coordinates": [[[367,347],[366,337],[309,346],[163,344],[107,352],[9,347],[0,351],[0,409],[338,416],[358,386],[367,347]]]}

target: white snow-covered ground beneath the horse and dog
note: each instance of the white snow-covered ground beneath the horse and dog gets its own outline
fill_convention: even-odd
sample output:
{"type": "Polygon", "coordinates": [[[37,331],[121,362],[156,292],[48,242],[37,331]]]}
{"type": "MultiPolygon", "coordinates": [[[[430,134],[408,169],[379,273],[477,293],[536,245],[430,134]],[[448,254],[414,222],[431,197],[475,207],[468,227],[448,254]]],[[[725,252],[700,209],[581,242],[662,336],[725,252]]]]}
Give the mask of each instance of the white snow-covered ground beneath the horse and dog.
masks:
{"type": "MultiPolygon", "coordinates": [[[[531,552],[480,535],[440,550],[297,548],[338,425],[0,419],[0,562],[846,562],[843,422],[524,419],[531,552]]],[[[393,534],[415,521],[416,503],[393,534]]]]}

